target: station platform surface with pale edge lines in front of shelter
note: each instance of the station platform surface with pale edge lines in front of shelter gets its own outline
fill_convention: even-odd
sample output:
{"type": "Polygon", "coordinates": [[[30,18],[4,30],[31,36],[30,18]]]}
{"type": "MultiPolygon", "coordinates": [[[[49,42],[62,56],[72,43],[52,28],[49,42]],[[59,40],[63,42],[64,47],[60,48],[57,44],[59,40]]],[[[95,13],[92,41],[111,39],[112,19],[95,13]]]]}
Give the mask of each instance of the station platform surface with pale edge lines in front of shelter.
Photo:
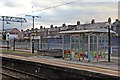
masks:
{"type": "Polygon", "coordinates": [[[62,58],[53,58],[48,56],[31,56],[31,57],[23,57],[17,55],[10,55],[10,54],[0,54],[0,57],[8,57],[13,59],[20,59],[25,61],[32,61],[38,63],[44,63],[59,67],[66,67],[66,68],[74,68],[77,70],[86,70],[95,73],[107,74],[112,76],[119,76],[119,58],[112,57],[111,62],[108,61],[94,61],[94,62],[87,62],[86,60],[69,60],[69,59],[62,59],[62,58]]]}

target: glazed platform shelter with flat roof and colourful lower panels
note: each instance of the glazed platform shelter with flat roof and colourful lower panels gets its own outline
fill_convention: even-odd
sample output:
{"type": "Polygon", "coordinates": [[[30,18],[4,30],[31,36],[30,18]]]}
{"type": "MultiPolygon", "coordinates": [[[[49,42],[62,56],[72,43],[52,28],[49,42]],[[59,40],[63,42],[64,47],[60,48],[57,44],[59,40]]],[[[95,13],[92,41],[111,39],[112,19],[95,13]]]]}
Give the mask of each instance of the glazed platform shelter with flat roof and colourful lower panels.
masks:
{"type": "MultiPolygon", "coordinates": [[[[110,31],[115,34],[114,31],[110,31]]],[[[63,59],[88,61],[106,59],[108,55],[108,29],[62,31],[63,59]]]]}

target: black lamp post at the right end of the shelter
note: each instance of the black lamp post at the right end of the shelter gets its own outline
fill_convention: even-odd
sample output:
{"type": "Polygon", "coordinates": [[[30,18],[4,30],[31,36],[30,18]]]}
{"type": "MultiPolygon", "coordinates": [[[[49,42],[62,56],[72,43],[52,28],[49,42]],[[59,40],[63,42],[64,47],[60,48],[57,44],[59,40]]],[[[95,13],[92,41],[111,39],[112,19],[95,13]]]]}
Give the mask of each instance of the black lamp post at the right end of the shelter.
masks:
{"type": "Polygon", "coordinates": [[[111,28],[111,18],[108,18],[108,62],[110,62],[110,54],[111,54],[111,44],[110,44],[110,28],[111,28]]]}

